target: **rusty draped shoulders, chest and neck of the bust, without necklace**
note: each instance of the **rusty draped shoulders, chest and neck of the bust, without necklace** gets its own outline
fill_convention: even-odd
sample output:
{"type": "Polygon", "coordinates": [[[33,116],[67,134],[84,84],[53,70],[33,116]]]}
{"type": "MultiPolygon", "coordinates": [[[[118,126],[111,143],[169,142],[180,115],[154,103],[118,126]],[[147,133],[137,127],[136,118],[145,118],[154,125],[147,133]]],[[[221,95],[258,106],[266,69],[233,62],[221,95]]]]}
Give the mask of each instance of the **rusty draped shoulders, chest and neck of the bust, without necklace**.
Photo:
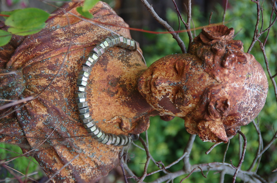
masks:
{"type": "MultiPolygon", "coordinates": [[[[62,8],[78,14],[78,6],[79,3],[69,3],[62,8]]],[[[122,149],[97,142],[79,122],[75,87],[83,58],[93,45],[113,32],[131,38],[124,28],[128,25],[106,3],[98,2],[90,12],[94,15],[93,23],[102,22],[97,24],[108,30],[57,10],[41,32],[13,38],[18,41],[0,49],[1,73],[16,71],[1,77],[1,98],[18,100],[42,92],[1,119],[2,133],[22,136],[1,135],[1,142],[18,144],[24,152],[37,149],[35,158],[49,177],[79,154],[52,182],[95,182],[116,166],[122,149]],[[70,52],[64,58],[70,41],[70,52]],[[64,59],[60,74],[44,90],[64,59]]],[[[138,52],[117,47],[110,48],[95,64],[87,98],[92,118],[106,133],[138,134],[148,128],[154,109],[136,89],[136,80],[145,69],[138,52]]],[[[1,111],[2,117],[16,107],[1,111]]]]}

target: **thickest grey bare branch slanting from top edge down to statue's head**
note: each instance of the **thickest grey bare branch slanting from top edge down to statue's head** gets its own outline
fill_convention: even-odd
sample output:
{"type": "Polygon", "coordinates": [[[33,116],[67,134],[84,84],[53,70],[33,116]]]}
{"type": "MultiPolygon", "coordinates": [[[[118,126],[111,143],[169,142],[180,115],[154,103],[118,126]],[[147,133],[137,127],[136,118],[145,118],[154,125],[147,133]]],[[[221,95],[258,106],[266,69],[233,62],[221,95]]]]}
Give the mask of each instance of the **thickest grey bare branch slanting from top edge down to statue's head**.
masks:
{"type": "Polygon", "coordinates": [[[158,14],[153,9],[152,5],[150,5],[146,0],[141,0],[141,2],[146,7],[146,9],[151,13],[153,18],[170,32],[170,34],[173,36],[173,38],[177,41],[179,47],[182,50],[182,53],[187,53],[184,42],[181,40],[181,38],[179,37],[179,35],[177,33],[172,32],[172,31],[174,31],[173,28],[166,21],[164,21],[163,19],[161,19],[161,17],[158,16],[158,14]]]}

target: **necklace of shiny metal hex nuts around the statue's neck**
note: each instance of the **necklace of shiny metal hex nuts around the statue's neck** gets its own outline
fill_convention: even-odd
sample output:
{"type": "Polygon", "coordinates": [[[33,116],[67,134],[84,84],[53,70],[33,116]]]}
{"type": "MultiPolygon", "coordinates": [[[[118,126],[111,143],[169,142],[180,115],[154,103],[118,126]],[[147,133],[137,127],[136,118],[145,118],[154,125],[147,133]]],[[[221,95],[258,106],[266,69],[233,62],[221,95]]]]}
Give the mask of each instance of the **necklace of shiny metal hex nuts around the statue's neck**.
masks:
{"type": "Polygon", "coordinates": [[[87,104],[87,83],[89,80],[91,68],[99,60],[99,57],[107,51],[109,48],[119,46],[132,51],[136,51],[137,43],[133,39],[124,38],[123,36],[113,35],[108,38],[102,39],[90,50],[89,55],[83,59],[81,70],[77,77],[77,85],[75,92],[75,99],[78,105],[79,118],[86,128],[87,132],[95,138],[98,142],[106,145],[127,146],[132,140],[138,137],[138,135],[114,135],[105,133],[95,124],[90,116],[90,109],[87,104]]]}

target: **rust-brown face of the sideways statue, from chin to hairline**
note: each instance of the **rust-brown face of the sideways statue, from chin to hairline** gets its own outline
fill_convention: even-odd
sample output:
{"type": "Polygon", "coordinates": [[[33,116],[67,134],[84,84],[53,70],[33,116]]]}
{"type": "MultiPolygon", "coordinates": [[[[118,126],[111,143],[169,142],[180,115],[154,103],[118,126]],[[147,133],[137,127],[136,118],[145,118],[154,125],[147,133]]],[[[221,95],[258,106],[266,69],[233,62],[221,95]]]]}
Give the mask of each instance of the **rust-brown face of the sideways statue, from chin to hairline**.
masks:
{"type": "Polygon", "coordinates": [[[165,56],[139,78],[138,90],[156,110],[183,117],[193,109],[205,89],[216,82],[203,70],[201,61],[189,54],[165,56]]]}

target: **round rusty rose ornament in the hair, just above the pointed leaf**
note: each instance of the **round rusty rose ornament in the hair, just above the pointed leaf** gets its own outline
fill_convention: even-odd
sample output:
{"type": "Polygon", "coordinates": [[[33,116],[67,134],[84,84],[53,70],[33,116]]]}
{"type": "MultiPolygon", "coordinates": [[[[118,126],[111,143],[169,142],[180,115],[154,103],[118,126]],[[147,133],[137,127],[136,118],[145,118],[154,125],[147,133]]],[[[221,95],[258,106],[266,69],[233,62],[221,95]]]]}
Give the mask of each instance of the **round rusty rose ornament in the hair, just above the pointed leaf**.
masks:
{"type": "Polygon", "coordinates": [[[212,120],[220,120],[228,115],[230,111],[230,102],[227,98],[220,98],[209,102],[208,116],[212,120]]]}

